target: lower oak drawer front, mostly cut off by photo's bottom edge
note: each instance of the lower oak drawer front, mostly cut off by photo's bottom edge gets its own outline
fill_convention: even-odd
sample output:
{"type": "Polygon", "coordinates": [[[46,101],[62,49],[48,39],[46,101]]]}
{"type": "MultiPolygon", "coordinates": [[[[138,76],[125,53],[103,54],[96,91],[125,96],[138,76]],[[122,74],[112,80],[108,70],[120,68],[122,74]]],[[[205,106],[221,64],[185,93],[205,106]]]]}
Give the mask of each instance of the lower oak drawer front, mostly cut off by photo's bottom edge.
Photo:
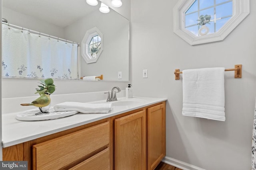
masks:
{"type": "Polygon", "coordinates": [[[109,148],[99,152],[70,170],[109,170],[109,148]]]}

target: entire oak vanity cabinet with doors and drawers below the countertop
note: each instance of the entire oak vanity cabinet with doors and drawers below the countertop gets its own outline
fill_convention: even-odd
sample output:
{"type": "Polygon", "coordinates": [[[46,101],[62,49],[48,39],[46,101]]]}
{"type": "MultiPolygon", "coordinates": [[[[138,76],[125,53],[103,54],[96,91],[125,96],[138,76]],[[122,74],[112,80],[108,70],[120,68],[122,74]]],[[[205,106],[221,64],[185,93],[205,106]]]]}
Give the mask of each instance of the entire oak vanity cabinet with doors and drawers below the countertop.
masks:
{"type": "Polygon", "coordinates": [[[28,169],[152,170],[165,156],[166,102],[3,148],[28,169]]]}

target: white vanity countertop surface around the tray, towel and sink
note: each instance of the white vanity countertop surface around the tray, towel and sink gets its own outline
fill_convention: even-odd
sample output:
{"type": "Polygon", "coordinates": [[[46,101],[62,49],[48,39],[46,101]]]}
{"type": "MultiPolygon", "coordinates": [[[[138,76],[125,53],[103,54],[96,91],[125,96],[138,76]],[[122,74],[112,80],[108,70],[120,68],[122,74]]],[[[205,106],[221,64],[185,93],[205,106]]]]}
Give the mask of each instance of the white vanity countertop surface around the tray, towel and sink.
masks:
{"type": "MultiPolygon", "coordinates": [[[[122,99],[125,98],[118,98],[120,101],[122,99]]],[[[69,117],[43,121],[19,121],[15,117],[20,112],[2,113],[2,146],[10,147],[167,100],[166,98],[149,97],[134,97],[132,99],[139,99],[142,102],[134,102],[129,106],[112,106],[109,113],[77,113],[69,117]]],[[[106,103],[106,100],[97,101],[97,103],[101,102],[106,103]]]]}

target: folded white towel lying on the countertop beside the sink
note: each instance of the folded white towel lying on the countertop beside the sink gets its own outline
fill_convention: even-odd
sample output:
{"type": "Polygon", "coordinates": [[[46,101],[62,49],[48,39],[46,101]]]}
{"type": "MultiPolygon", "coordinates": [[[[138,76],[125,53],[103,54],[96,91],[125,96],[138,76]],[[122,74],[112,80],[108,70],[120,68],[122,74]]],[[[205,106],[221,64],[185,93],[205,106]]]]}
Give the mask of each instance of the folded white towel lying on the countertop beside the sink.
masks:
{"type": "Polygon", "coordinates": [[[80,102],[63,102],[56,104],[55,111],[79,111],[81,113],[108,113],[111,110],[111,103],[90,104],[80,102]]]}

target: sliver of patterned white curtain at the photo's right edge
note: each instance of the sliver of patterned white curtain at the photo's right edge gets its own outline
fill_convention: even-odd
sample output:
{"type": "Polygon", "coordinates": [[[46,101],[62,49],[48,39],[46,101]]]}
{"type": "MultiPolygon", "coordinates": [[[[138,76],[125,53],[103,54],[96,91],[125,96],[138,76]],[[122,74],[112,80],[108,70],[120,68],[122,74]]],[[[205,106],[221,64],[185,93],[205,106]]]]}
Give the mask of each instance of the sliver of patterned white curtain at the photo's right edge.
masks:
{"type": "Polygon", "coordinates": [[[252,129],[252,170],[256,170],[256,102],[254,107],[254,121],[252,129]]]}

